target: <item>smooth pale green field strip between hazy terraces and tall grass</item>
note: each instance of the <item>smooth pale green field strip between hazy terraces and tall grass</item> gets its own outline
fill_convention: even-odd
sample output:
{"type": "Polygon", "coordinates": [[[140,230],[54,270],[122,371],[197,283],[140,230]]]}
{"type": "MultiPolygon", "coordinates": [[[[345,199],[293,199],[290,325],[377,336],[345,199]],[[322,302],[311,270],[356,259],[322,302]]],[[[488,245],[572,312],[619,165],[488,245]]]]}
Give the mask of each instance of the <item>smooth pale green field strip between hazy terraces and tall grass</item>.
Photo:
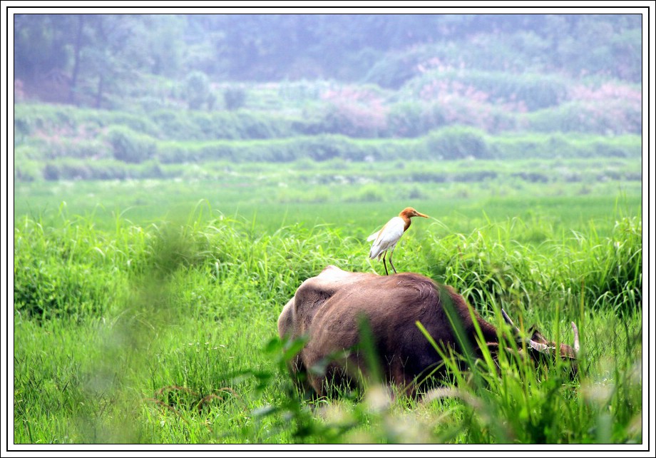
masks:
{"type": "Polygon", "coordinates": [[[373,232],[414,205],[449,232],[469,232],[489,218],[518,216],[556,233],[585,229],[593,220],[596,230],[608,235],[614,216],[635,214],[642,198],[642,182],[622,178],[640,174],[640,165],[627,160],[301,161],[214,163],[186,170],[185,178],[177,180],[17,181],[14,214],[53,225],[60,214],[64,219],[83,215],[106,230],[119,216],[137,225],[185,221],[206,200],[200,205],[203,218],[243,218],[258,231],[302,222],[364,235],[360,231],[373,232]],[[545,182],[514,176],[523,171],[539,171],[545,182]]]}

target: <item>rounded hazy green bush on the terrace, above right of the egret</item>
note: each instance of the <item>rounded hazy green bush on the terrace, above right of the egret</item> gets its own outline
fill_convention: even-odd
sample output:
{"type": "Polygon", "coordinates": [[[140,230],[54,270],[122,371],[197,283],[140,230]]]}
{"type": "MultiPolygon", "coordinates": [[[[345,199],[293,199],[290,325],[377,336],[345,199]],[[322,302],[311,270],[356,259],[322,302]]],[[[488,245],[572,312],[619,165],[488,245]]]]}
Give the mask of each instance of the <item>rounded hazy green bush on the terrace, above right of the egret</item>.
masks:
{"type": "Polygon", "coordinates": [[[488,143],[474,128],[447,127],[429,133],[426,148],[431,156],[443,159],[488,158],[488,143]]]}

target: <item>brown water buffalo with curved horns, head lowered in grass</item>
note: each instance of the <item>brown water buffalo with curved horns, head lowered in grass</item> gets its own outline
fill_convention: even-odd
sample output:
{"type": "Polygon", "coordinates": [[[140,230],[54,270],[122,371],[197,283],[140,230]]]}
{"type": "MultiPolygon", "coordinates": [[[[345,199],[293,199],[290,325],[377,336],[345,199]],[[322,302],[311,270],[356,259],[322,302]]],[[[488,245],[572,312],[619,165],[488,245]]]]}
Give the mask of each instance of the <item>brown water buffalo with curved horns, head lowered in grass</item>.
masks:
{"type": "MultiPolygon", "coordinates": [[[[408,394],[416,392],[420,377],[428,375],[442,361],[416,322],[446,351],[463,351],[449,316],[461,327],[474,355],[475,318],[484,345],[498,351],[499,332],[483,320],[452,287],[438,285],[416,273],[392,276],[350,273],[329,265],[317,277],[305,280],[283,308],[278,319],[281,338],[306,337],[307,344],[289,361],[297,382],[317,395],[327,395],[329,385],[354,386],[360,374],[367,374],[366,352],[357,350],[362,330],[369,330],[374,350],[386,382],[398,385],[408,394]],[[452,307],[448,307],[451,305],[452,307]],[[449,310],[454,313],[447,315],[449,310]],[[366,319],[367,328],[362,327],[366,319]]],[[[553,352],[555,346],[538,332],[524,339],[519,336],[506,312],[503,316],[516,332],[517,345],[537,359],[553,352]]],[[[574,347],[560,345],[560,356],[575,359],[578,330],[572,323],[574,347]]],[[[504,340],[506,342],[506,340],[504,340]]],[[[506,342],[507,343],[507,342],[506,342]]]]}

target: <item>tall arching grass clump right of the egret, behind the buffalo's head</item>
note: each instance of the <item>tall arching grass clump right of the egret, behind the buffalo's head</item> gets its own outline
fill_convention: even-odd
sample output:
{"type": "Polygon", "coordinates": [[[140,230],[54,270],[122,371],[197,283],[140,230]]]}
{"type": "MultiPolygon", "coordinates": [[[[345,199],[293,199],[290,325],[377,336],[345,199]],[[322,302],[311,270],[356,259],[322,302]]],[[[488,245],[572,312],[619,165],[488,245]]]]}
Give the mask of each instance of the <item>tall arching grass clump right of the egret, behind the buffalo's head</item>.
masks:
{"type": "Polygon", "coordinates": [[[545,225],[531,228],[512,220],[506,227],[433,238],[425,247],[426,264],[431,266],[431,276],[456,286],[478,310],[491,310],[503,302],[528,309],[545,298],[558,300],[560,310],[570,313],[584,304],[586,310],[598,307],[600,297],[613,312],[635,312],[642,306],[642,243],[637,235],[642,229],[637,220],[618,220],[609,238],[598,238],[594,228],[590,237],[575,232],[575,245],[568,240],[553,243],[552,231],[545,225]],[[496,233],[496,238],[486,233],[496,233]],[[523,243],[514,240],[513,233],[519,233],[523,243]],[[445,257],[454,245],[457,254],[445,257]],[[575,250],[590,256],[568,263],[575,250]]]}

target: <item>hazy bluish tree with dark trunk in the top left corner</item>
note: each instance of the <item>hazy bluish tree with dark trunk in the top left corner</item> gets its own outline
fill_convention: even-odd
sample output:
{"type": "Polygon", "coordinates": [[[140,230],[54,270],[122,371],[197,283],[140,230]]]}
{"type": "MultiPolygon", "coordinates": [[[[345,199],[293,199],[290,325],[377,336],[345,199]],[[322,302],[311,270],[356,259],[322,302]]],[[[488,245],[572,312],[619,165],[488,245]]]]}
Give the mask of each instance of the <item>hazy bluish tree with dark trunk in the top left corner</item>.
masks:
{"type": "Polygon", "coordinates": [[[108,93],[121,95],[148,68],[150,49],[143,46],[153,36],[148,19],[130,14],[16,15],[15,76],[27,81],[28,88],[57,78],[57,90],[65,93],[58,101],[100,108],[108,93]]]}

